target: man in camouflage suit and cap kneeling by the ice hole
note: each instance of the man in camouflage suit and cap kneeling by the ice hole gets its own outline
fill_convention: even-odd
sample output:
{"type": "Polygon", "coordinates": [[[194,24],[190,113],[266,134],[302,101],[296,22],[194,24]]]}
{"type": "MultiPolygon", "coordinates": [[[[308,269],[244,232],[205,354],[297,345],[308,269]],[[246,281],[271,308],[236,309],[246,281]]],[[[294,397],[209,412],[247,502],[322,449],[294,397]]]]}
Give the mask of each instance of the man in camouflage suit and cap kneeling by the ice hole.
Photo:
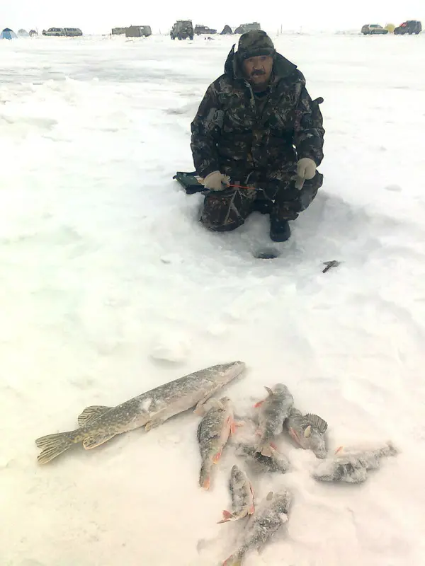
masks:
{"type": "Polygon", "coordinates": [[[261,30],[241,35],[191,124],[196,172],[206,189],[200,221],[234,230],[254,210],[270,214],[270,237],[290,237],[288,220],[305,210],[322,186],[319,103],[296,65],[261,30]],[[240,188],[237,188],[240,187],[240,188]]]}

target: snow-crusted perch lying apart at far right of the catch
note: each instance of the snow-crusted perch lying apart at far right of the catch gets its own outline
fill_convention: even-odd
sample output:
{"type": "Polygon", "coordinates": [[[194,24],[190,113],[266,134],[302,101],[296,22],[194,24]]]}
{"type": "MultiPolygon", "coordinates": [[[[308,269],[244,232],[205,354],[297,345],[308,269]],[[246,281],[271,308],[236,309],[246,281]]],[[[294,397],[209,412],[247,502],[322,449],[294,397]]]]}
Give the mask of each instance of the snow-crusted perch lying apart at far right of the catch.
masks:
{"type": "Polygon", "coordinates": [[[397,450],[390,442],[377,450],[355,450],[336,454],[319,463],[312,474],[323,482],[362,483],[368,478],[368,470],[380,467],[380,458],[396,456],[397,450]]]}

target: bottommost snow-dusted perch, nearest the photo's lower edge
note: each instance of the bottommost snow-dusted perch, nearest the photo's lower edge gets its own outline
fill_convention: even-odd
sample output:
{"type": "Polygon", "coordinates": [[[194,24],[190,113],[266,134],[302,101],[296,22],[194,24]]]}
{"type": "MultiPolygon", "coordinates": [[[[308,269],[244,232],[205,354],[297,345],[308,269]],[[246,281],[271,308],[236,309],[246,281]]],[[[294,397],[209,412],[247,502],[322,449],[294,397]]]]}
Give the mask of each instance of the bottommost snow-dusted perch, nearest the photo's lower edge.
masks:
{"type": "Polygon", "coordinates": [[[245,529],[241,533],[239,548],[222,566],[240,566],[249,550],[260,550],[280,527],[288,521],[290,493],[283,490],[270,492],[261,507],[249,517],[245,529]]]}

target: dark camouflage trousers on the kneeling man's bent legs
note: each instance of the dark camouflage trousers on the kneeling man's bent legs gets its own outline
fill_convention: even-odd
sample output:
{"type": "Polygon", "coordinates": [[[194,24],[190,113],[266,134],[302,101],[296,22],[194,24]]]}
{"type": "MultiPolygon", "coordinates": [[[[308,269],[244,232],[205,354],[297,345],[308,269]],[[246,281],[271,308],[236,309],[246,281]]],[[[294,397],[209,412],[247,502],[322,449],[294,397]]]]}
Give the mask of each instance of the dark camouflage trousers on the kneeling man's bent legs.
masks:
{"type": "Polygon", "coordinates": [[[217,232],[230,231],[242,226],[246,218],[259,210],[272,214],[279,220],[295,220],[299,212],[305,210],[317,195],[323,184],[323,175],[316,172],[314,178],[306,180],[301,190],[295,188],[295,181],[280,181],[273,191],[263,189],[237,189],[229,187],[222,191],[211,191],[205,196],[202,224],[217,232]]]}

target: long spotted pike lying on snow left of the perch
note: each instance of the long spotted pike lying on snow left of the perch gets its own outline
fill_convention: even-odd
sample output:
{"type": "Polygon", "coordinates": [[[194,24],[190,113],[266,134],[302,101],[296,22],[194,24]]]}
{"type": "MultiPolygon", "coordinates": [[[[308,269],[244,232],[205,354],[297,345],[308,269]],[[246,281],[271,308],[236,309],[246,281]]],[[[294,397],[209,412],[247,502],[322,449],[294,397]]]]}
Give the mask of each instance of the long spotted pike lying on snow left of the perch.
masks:
{"type": "Polygon", "coordinates": [[[239,376],[244,368],[244,362],[217,364],[164,383],[116,407],[87,407],[78,417],[79,428],[48,434],[35,441],[42,448],[38,462],[45,464],[79,442],[89,450],[117,434],[143,426],[147,431],[158,427],[195,405],[200,410],[211,395],[239,376]]]}

